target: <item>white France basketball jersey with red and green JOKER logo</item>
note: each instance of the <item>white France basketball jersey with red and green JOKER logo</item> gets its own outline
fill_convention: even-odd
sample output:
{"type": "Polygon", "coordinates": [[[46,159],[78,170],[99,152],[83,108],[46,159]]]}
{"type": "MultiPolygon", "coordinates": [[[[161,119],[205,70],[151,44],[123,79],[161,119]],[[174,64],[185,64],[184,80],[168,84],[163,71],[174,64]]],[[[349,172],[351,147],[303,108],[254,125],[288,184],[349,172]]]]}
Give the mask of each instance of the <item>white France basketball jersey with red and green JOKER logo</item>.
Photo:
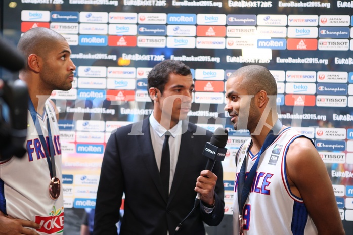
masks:
{"type": "MultiPolygon", "coordinates": [[[[47,118],[49,118],[52,143],[55,152],[56,175],[62,183],[61,147],[55,111],[49,100],[46,111],[37,119],[42,133],[48,141],[47,118]]],[[[53,200],[49,195],[50,170],[33,119],[28,111],[27,138],[24,147],[27,153],[22,158],[12,157],[0,161],[0,210],[14,218],[41,224],[39,234],[55,234],[63,231],[63,192],[53,200]]]]}

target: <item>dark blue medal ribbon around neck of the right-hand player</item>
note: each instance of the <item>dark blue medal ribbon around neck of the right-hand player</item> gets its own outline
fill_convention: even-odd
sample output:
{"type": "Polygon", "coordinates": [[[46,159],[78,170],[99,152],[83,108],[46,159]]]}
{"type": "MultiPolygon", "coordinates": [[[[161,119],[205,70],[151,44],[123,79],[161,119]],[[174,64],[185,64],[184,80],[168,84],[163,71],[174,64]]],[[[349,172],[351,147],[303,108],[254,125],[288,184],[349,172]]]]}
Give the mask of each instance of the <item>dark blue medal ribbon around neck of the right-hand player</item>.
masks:
{"type": "MultiPolygon", "coordinates": [[[[250,194],[250,189],[251,185],[254,181],[255,173],[257,170],[258,162],[260,160],[261,154],[263,151],[265,151],[276,139],[277,134],[280,132],[282,129],[282,123],[280,122],[279,119],[277,119],[275,125],[272,127],[270,132],[267,134],[264,143],[260,149],[260,152],[258,152],[256,161],[254,165],[251,167],[250,172],[248,176],[245,179],[245,166],[246,166],[246,155],[243,160],[243,164],[241,165],[240,172],[239,172],[239,178],[238,178],[238,206],[239,206],[239,215],[240,218],[243,214],[243,208],[245,205],[245,201],[247,200],[249,194],[250,194]]],[[[250,145],[249,145],[250,146],[250,145]]],[[[249,147],[248,147],[249,148],[249,147]]],[[[247,152],[247,151],[246,151],[247,152]]]]}

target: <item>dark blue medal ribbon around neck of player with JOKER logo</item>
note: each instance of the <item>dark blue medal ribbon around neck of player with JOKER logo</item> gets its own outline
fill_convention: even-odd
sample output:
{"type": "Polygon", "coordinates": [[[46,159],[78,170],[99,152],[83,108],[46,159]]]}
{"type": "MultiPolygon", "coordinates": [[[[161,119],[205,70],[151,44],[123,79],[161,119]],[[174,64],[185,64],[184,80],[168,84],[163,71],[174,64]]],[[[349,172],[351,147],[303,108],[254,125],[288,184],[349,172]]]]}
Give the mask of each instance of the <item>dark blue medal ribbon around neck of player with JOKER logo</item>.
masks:
{"type": "Polygon", "coordinates": [[[30,98],[28,99],[28,109],[29,109],[29,112],[30,112],[30,114],[32,116],[32,119],[33,119],[33,122],[34,122],[34,125],[35,125],[35,129],[38,132],[41,146],[43,147],[44,152],[45,152],[46,157],[47,157],[47,162],[48,162],[48,167],[49,167],[49,171],[50,171],[50,176],[51,176],[51,178],[56,177],[55,159],[54,159],[54,155],[55,155],[54,144],[53,144],[53,140],[52,140],[52,132],[50,130],[50,123],[49,123],[50,115],[49,115],[49,113],[47,111],[47,108],[45,108],[45,110],[47,112],[47,116],[48,116],[47,117],[47,128],[48,128],[48,138],[49,138],[49,140],[48,140],[48,143],[47,143],[45,138],[44,138],[44,136],[43,136],[43,132],[41,131],[39,121],[37,120],[37,112],[35,111],[34,105],[33,105],[33,103],[32,103],[30,98]],[[48,148],[49,148],[50,153],[48,152],[48,148]]]}

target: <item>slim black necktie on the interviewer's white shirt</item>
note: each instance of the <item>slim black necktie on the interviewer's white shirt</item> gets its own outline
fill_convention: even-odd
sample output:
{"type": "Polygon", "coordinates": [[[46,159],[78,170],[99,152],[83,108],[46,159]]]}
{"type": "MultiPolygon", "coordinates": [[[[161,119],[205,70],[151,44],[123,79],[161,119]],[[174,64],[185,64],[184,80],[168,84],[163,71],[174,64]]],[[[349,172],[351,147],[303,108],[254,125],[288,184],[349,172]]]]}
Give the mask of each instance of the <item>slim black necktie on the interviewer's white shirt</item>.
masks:
{"type": "Polygon", "coordinates": [[[170,132],[167,131],[164,134],[164,143],[162,149],[162,158],[160,163],[159,174],[162,179],[163,189],[166,197],[169,196],[169,177],[170,177],[170,152],[169,152],[169,140],[170,132]]]}

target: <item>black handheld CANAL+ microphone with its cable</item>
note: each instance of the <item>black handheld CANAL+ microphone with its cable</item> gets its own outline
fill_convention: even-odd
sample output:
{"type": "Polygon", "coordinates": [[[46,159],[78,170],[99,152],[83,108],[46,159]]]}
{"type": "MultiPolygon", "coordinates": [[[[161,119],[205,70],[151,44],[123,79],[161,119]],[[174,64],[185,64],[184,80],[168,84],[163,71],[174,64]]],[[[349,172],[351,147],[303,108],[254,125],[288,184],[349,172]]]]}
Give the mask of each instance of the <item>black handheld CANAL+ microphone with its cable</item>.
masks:
{"type": "MultiPolygon", "coordinates": [[[[217,128],[210,142],[207,142],[202,154],[208,157],[205,170],[213,170],[214,164],[216,161],[223,161],[226,157],[227,149],[224,148],[227,145],[228,140],[228,130],[224,128],[217,128]]],[[[194,212],[195,208],[199,205],[201,200],[201,194],[197,193],[195,198],[195,203],[193,209],[190,213],[179,223],[178,227],[175,228],[174,235],[178,232],[179,228],[182,226],[182,223],[194,212]]]]}

